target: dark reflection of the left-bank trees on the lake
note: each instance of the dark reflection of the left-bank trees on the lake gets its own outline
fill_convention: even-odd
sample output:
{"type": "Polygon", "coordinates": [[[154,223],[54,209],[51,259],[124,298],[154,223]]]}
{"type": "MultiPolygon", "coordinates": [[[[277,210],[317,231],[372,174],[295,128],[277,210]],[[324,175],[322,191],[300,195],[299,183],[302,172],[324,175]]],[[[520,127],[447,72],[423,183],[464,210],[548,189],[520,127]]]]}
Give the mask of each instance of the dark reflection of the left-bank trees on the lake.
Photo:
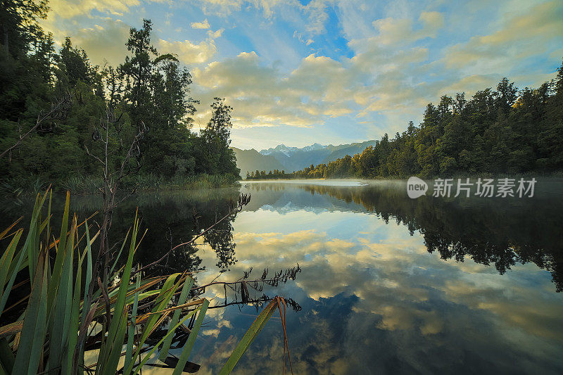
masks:
{"type": "MultiPolygon", "coordinates": [[[[143,264],[149,264],[178,243],[190,241],[201,231],[215,224],[229,213],[230,204],[238,198],[238,189],[141,194],[137,201],[123,205],[118,216],[120,222],[127,222],[124,215],[131,215],[129,212],[134,212],[134,205],[138,205],[144,226],[148,228],[146,238],[138,250],[138,259],[143,264]]],[[[225,220],[218,222],[197,241],[208,244],[215,251],[220,272],[229,270],[236,262],[236,243],[233,241],[232,226],[235,218],[236,212],[230,213],[225,220]]],[[[115,229],[114,233],[122,234],[124,230],[125,228],[115,229]]],[[[162,272],[201,270],[197,244],[172,250],[170,255],[154,268],[156,272],[158,268],[162,272]]]]}

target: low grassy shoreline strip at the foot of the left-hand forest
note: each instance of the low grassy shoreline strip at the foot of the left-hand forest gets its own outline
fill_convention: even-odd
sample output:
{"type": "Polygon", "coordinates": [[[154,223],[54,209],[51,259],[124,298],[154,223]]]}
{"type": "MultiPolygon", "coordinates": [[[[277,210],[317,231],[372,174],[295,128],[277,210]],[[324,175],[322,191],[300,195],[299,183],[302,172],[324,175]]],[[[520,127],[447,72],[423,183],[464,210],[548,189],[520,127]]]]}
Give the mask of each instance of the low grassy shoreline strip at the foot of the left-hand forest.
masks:
{"type": "MultiPolygon", "coordinates": [[[[31,174],[27,177],[19,177],[11,180],[0,181],[0,193],[3,195],[27,195],[37,194],[53,184],[55,191],[70,191],[72,194],[99,193],[99,187],[103,186],[101,177],[75,176],[61,181],[49,181],[48,179],[31,174]]],[[[160,174],[139,174],[127,177],[123,180],[121,189],[137,191],[158,190],[184,190],[184,189],[213,189],[225,186],[236,186],[239,184],[239,176],[234,174],[197,174],[195,176],[175,176],[166,178],[160,174]]]]}

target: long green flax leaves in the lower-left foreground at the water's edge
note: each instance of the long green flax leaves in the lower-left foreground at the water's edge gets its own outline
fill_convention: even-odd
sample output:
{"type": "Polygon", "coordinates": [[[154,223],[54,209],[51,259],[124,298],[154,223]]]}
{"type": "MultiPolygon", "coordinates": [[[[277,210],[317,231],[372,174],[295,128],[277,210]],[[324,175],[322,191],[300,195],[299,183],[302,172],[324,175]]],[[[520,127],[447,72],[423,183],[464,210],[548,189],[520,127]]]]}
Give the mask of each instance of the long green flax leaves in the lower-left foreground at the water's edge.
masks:
{"type": "MultiPolygon", "coordinates": [[[[50,191],[37,196],[27,236],[23,229],[15,229],[18,222],[0,233],[0,241],[8,243],[0,259],[2,319],[25,302],[25,310],[0,327],[1,373],[77,374],[87,370],[138,374],[160,345],[163,348],[158,357],[165,363],[160,366],[174,368],[174,374],[182,373],[186,365],[194,366],[188,364],[189,355],[209,305],[205,298],[198,298],[196,291],[201,287],[194,288],[194,279],[186,272],[141,278],[141,268],[134,266],[134,254],[142,240],[136,216],[121,245],[127,261],[117,268],[115,260],[110,270],[114,284],[102,288],[101,279],[93,277],[92,248],[99,241],[99,231],[90,233],[87,220],[79,223],[76,216],[71,218],[69,203],[67,193],[58,239],[51,228],[50,191]],[[22,278],[28,282],[14,284],[22,278]],[[30,286],[28,297],[6,308],[11,293],[17,294],[25,284],[30,286]],[[96,285],[94,293],[88,293],[89,285],[96,285]],[[194,315],[189,335],[184,335],[179,345],[182,354],[177,359],[169,356],[172,343],[178,343],[175,332],[194,315]],[[158,330],[168,317],[172,318],[168,328],[158,330]],[[85,363],[84,352],[91,350],[96,362],[85,363]],[[124,355],[125,362],[120,362],[124,355]]],[[[285,322],[281,312],[285,302],[274,298],[249,328],[222,373],[232,371],[251,343],[247,336],[254,338],[276,307],[285,322]]]]}

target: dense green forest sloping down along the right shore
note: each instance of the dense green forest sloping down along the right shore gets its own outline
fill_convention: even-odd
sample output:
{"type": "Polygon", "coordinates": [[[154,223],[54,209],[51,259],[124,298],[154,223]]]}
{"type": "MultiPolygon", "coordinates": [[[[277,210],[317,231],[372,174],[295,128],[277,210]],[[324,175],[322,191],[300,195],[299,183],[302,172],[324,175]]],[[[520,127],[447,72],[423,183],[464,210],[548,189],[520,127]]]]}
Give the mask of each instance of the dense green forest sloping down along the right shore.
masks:
{"type": "Polygon", "coordinates": [[[362,153],[264,178],[404,178],[563,170],[563,65],[555,80],[517,89],[503,78],[496,91],[442,96],[429,104],[419,127],[412,122],[393,139],[385,134],[362,153]]]}

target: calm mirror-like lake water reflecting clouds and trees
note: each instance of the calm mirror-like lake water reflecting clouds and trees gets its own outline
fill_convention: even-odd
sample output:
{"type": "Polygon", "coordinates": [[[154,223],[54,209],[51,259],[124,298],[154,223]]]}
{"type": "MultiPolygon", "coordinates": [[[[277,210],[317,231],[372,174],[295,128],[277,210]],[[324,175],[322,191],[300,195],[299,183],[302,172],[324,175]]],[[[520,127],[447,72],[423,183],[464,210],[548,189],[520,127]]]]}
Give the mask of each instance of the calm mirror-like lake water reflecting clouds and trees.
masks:
{"type": "MultiPolygon", "coordinates": [[[[239,192],[251,193],[243,211],[160,272],[199,270],[202,285],[298,264],[295,281],[251,291],[298,304],[287,314],[295,374],[563,373],[563,180],[539,180],[533,198],[410,199],[405,182],[350,181],[144,193],[115,213],[113,236],[138,206],[146,264],[224,215],[239,192]]],[[[84,217],[99,199],[71,203],[84,217]]],[[[2,224],[19,210],[5,208],[2,224]]],[[[205,296],[220,305],[224,293],[205,296]]],[[[208,311],[190,358],[199,374],[218,372],[257,314],[208,311]]],[[[280,374],[282,353],[274,315],[234,372],[280,374]]]]}

